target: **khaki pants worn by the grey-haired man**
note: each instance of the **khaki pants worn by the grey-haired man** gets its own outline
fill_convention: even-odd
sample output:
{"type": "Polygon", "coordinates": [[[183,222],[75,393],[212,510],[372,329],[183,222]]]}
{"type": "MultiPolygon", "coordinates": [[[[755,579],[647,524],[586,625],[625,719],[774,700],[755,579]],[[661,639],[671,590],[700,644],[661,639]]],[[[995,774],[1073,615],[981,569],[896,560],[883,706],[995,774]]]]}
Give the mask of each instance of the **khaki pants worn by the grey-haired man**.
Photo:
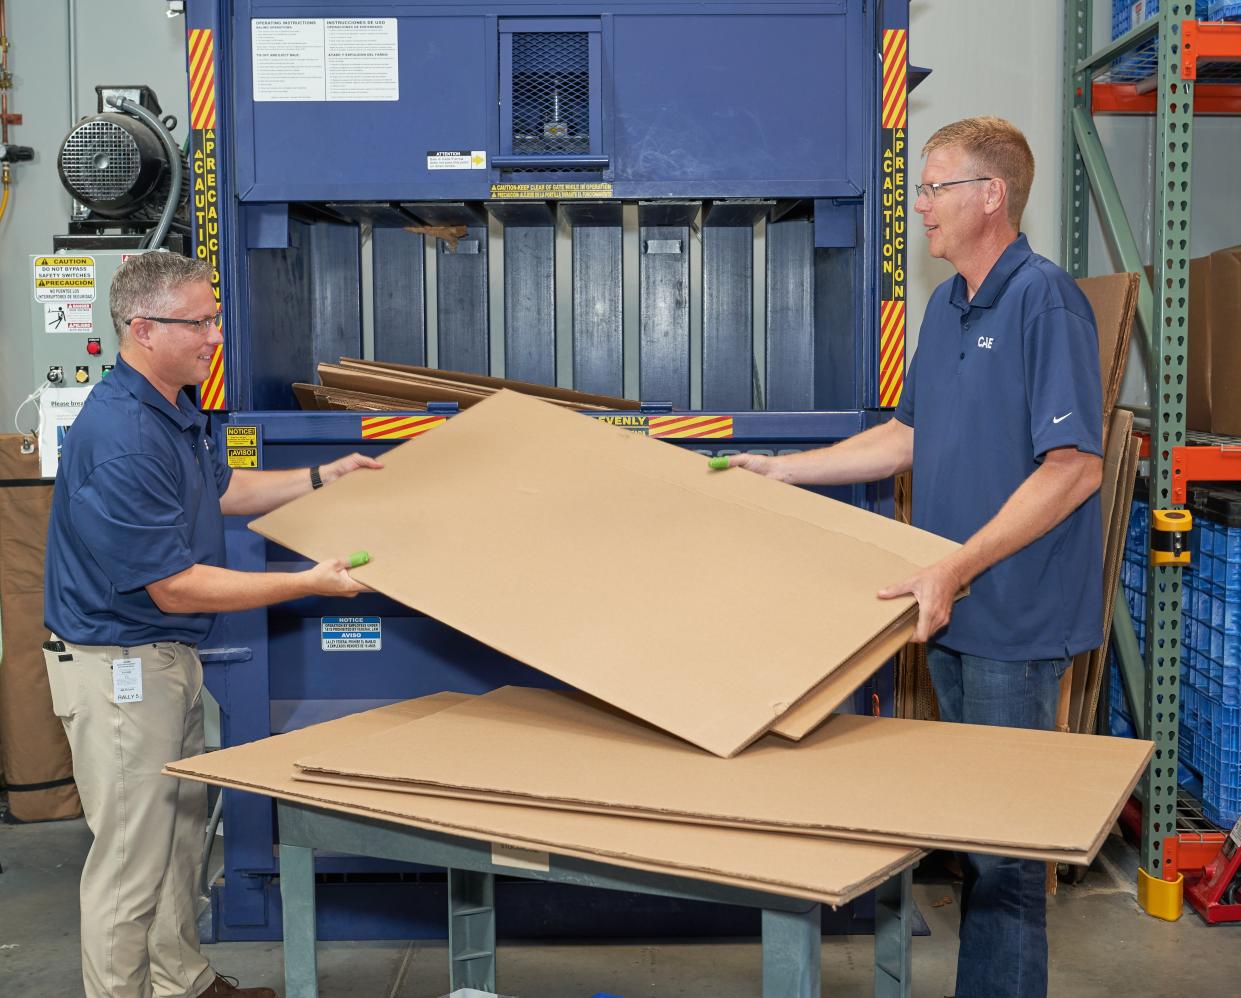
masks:
{"type": "Polygon", "coordinates": [[[86,996],[195,998],[215,981],[196,919],[206,788],[160,770],[202,752],[202,663],[172,642],[66,642],[43,658],[94,833],[82,869],[86,996]],[[115,658],[141,659],[141,701],[114,703],[115,658]]]}

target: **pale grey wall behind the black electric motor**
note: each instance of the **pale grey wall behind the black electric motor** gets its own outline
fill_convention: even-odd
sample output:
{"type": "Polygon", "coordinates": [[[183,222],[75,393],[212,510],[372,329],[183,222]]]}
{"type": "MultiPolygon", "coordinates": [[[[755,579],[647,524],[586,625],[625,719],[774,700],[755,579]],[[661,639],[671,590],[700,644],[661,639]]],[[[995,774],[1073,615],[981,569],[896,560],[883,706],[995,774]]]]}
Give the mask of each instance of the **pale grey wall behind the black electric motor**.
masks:
{"type": "MultiPolygon", "coordinates": [[[[174,135],[185,138],[185,19],[169,17],[158,0],[7,0],[10,110],[24,123],[9,132],[15,145],[35,149],[35,160],[14,168],[9,212],[0,221],[0,421],[12,432],[14,410],[36,387],[31,381],[31,273],[27,257],[47,252],[68,223],[69,197],[56,173],[56,154],[74,115],[96,110],[97,83],[146,83],[165,114],[176,117],[174,135]],[[71,22],[76,46],[71,46],[71,22]],[[69,60],[71,47],[76,58],[69,60]]],[[[36,415],[27,406],[22,427],[36,415]]]]}

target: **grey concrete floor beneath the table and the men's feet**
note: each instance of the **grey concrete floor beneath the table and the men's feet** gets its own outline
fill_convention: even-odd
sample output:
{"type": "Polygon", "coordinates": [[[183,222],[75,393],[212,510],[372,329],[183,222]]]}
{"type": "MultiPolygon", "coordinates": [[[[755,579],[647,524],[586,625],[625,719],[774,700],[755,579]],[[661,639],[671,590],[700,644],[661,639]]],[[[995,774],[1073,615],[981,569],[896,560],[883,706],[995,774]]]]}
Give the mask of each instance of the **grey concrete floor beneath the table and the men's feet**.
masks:
{"type": "MultiPolygon", "coordinates": [[[[77,881],[89,847],[84,823],[0,824],[0,994],[81,994],[77,881]]],[[[1111,839],[1086,881],[1049,899],[1050,993],[1055,998],[1241,994],[1241,925],[1209,928],[1186,907],[1176,924],[1143,915],[1133,899],[1137,855],[1111,839]]],[[[915,885],[932,935],[913,942],[913,994],[953,992],[959,886],[931,875],[915,885]],[[951,897],[948,904],[943,899],[951,897]]],[[[207,947],[212,964],[283,994],[279,943],[207,947]]],[[[510,943],[499,950],[500,989],[520,998],[625,998],[761,992],[756,941],[510,943]]],[[[828,938],[823,993],[874,994],[869,936],[828,938]]],[[[319,947],[320,996],[438,998],[448,991],[444,943],[335,942],[319,947]]]]}

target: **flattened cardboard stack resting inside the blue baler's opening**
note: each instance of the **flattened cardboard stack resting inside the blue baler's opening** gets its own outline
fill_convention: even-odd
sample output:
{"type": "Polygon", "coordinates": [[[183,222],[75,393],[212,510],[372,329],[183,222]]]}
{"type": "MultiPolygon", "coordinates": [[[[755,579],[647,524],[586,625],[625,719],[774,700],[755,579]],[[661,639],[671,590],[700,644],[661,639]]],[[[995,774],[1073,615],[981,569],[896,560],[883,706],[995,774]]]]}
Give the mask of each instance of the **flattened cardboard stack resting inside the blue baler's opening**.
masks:
{"type": "Polygon", "coordinates": [[[441,371],[411,364],[341,357],[340,364],[320,364],[321,385],[294,385],[303,408],[364,411],[419,411],[427,402],[455,402],[469,408],[498,391],[508,390],[575,410],[634,410],[638,402],[611,395],[532,385],[467,371],[441,371]]]}

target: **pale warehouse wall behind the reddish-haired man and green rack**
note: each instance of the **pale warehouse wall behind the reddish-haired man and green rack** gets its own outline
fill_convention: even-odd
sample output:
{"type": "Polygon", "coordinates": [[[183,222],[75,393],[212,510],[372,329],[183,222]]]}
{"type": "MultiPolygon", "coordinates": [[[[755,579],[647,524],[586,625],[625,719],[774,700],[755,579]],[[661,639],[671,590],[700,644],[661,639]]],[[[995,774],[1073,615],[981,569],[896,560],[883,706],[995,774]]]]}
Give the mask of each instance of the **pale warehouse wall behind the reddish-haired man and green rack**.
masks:
{"type": "MultiPolygon", "coordinates": [[[[1111,40],[1111,26],[1112,5],[1096,0],[1096,48],[1111,40]]],[[[933,70],[910,98],[911,149],[920,149],[941,124],[972,114],[999,114],[1018,124],[1030,140],[1037,164],[1024,228],[1031,246],[1056,261],[1060,259],[1061,237],[1062,34],[1062,2],[953,0],[949,6],[913,0],[910,12],[911,60],[933,70]]],[[[1101,115],[1097,120],[1134,237],[1149,262],[1154,118],[1101,115]]],[[[1194,256],[1241,243],[1241,197],[1236,195],[1239,163],[1241,122],[1235,118],[1196,119],[1190,222],[1194,256]]],[[[910,173],[912,185],[917,182],[920,168],[911,166],[910,173]]],[[[911,204],[912,196],[911,190],[911,204]]],[[[912,346],[927,298],[941,281],[952,276],[949,266],[927,256],[916,216],[908,259],[912,346]]],[[[1118,263],[1093,221],[1090,273],[1104,274],[1116,269],[1118,263]]],[[[1145,376],[1137,354],[1129,359],[1122,398],[1147,403],[1145,376]]]]}

